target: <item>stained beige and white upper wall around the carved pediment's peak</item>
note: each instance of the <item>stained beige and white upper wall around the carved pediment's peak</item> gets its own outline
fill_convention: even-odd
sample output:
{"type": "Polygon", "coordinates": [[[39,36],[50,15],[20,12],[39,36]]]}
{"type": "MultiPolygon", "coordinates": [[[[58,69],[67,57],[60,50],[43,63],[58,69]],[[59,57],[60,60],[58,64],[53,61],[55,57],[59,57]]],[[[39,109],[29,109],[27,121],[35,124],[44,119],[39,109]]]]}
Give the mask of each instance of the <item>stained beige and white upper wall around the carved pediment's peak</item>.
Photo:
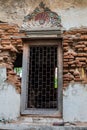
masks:
{"type": "Polygon", "coordinates": [[[61,16],[65,29],[87,26],[87,0],[0,0],[0,20],[21,26],[24,16],[41,1],[61,16]]]}

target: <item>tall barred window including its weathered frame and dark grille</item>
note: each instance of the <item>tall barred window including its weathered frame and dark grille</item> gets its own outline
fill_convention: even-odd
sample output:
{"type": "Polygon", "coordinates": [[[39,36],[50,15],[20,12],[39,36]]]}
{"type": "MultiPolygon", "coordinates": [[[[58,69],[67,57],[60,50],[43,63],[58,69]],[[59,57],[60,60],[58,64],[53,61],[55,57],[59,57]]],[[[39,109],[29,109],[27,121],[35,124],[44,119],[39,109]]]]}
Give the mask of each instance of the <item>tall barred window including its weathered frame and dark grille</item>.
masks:
{"type": "Polygon", "coordinates": [[[39,40],[24,44],[22,114],[52,115],[62,108],[61,43],[39,40]]]}

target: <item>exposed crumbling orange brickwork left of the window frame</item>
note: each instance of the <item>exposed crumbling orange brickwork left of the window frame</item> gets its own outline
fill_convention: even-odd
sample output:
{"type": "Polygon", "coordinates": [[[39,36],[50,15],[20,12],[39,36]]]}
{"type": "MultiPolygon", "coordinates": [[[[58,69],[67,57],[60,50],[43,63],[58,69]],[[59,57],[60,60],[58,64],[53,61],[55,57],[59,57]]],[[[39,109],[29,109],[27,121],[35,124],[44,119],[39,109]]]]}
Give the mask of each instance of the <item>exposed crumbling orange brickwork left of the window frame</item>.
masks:
{"type": "Polygon", "coordinates": [[[20,92],[20,77],[16,75],[13,69],[13,63],[16,54],[22,51],[22,40],[14,38],[21,36],[17,25],[0,23],[0,66],[7,68],[7,81],[16,86],[16,90],[20,92]]]}

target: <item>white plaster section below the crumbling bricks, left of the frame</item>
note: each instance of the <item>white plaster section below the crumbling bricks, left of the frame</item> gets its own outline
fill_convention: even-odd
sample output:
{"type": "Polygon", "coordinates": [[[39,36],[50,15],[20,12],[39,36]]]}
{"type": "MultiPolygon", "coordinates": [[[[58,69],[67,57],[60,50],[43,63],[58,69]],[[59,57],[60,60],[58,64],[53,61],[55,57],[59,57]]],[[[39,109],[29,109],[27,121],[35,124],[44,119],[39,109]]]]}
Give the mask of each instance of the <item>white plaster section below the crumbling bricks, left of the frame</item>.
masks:
{"type": "Polygon", "coordinates": [[[6,68],[0,68],[0,120],[20,116],[20,94],[6,81],[6,68]]]}

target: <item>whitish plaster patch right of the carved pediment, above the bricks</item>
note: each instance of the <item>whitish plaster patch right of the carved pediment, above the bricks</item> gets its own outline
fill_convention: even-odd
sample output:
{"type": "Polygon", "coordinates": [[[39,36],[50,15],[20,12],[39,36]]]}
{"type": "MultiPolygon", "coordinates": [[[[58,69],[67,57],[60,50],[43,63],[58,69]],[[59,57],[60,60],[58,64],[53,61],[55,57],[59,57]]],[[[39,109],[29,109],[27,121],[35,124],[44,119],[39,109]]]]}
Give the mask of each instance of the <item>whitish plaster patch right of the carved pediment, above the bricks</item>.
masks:
{"type": "MultiPolygon", "coordinates": [[[[56,12],[58,12],[56,10],[56,12]]],[[[87,8],[70,8],[67,10],[59,10],[62,25],[65,30],[70,28],[87,27],[87,8]]]]}

